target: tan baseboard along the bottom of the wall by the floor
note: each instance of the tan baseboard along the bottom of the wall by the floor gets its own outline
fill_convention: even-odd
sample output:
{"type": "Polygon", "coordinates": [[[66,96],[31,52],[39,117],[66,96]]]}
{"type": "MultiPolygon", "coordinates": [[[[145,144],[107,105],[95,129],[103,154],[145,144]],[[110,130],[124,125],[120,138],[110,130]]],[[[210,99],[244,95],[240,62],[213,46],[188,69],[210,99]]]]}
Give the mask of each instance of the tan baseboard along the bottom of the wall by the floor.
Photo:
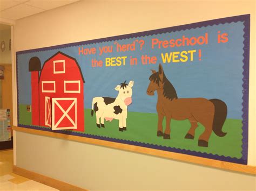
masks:
{"type": "Polygon", "coordinates": [[[83,188],[79,188],[77,186],[70,185],[69,183],[50,178],[50,177],[42,175],[42,174],[38,174],[38,173],[31,172],[31,171],[28,171],[23,168],[19,168],[15,165],[13,166],[12,171],[15,174],[21,175],[30,180],[34,180],[34,181],[43,183],[44,185],[47,185],[47,186],[50,186],[52,188],[56,188],[59,190],[76,190],[76,191],[86,190],[83,188]]]}

